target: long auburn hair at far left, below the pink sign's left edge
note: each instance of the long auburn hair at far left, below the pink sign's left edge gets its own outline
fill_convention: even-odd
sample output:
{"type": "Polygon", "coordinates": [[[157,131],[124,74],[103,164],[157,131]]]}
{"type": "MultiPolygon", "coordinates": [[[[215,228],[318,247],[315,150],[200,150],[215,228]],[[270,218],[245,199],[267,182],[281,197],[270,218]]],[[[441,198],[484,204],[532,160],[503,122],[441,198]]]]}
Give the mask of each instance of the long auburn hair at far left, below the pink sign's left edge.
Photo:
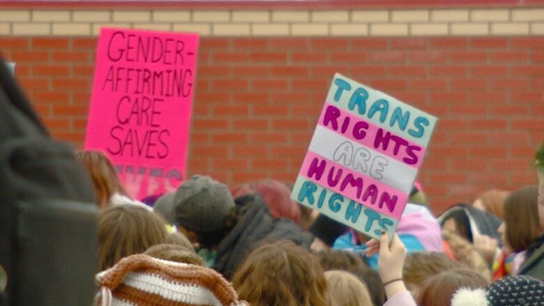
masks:
{"type": "Polygon", "coordinates": [[[102,152],[80,151],[75,153],[75,159],[91,176],[98,206],[107,206],[109,199],[115,193],[127,195],[112,162],[102,152]]]}

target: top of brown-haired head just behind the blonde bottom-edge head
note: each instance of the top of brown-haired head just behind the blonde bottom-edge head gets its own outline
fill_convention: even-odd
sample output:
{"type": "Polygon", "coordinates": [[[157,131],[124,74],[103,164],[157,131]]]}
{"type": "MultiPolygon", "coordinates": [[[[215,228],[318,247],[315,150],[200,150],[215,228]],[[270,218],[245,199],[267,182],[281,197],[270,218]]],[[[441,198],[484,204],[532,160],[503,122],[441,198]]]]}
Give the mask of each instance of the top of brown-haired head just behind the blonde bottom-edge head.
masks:
{"type": "Polygon", "coordinates": [[[351,251],[324,249],[315,252],[319,263],[324,270],[354,270],[357,268],[368,268],[368,265],[351,251]]]}

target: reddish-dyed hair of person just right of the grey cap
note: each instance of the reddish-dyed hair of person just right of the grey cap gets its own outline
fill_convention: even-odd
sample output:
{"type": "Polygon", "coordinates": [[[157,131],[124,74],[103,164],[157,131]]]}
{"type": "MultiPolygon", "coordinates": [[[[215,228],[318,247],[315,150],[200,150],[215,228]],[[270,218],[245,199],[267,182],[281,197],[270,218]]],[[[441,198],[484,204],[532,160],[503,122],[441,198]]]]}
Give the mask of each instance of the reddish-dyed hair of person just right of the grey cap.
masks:
{"type": "Polygon", "coordinates": [[[301,221],[301,208],[291,199],[291,190],[284,183],[266,178],[235,188],[232,196],[236,198],[252,193],[261,194],[273,218],[286,217],[296,223],[301,221]]]}

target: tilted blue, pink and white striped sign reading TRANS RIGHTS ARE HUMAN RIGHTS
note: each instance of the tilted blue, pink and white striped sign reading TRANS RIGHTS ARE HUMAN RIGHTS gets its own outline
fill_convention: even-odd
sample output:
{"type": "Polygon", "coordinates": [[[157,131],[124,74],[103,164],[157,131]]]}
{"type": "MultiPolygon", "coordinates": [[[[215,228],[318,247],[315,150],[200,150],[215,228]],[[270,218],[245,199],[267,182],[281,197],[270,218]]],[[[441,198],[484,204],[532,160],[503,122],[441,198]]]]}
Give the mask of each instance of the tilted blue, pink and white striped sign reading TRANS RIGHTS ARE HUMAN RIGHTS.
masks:
{"type": "Polygon", "coordinates": [[[336,74],[292,199],[368,236],[392,236],[436,122],[336,74]]]}

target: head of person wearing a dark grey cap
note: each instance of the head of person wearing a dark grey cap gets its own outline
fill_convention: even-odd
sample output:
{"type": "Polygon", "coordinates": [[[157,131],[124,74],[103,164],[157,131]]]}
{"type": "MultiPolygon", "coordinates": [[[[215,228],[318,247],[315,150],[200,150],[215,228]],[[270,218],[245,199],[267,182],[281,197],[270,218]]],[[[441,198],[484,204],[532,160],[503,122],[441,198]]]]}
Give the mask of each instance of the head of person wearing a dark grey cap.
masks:
{"type": "Polygon", "coordinates": [[[216,247],[238,220],[229,188],[209,176],[193,176],[163,197],[158,201],[171,202],[179,231],[202,247],[216,247]]]}

